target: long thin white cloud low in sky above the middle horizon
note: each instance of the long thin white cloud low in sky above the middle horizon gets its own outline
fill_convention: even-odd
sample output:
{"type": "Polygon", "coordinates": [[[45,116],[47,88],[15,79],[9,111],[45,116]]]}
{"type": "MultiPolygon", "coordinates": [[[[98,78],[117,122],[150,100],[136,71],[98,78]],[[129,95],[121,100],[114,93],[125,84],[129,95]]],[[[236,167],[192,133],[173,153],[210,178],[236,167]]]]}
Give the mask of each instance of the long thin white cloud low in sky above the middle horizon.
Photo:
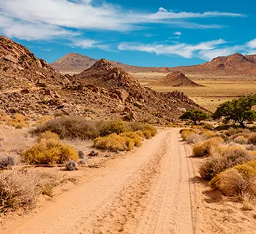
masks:
{"type": "Polygon", "coordinates": [[[119,50],[135,50],[142,52],[154,52],[157,55],[180,55],[184,58],[192,58],[193,53],[203,50],[213,50],[217,45],[224,44],[223,39],[210,42],[201,42],[199,44],[138,44],[138,43],[121,43],[118,45],[119,50]]]}

